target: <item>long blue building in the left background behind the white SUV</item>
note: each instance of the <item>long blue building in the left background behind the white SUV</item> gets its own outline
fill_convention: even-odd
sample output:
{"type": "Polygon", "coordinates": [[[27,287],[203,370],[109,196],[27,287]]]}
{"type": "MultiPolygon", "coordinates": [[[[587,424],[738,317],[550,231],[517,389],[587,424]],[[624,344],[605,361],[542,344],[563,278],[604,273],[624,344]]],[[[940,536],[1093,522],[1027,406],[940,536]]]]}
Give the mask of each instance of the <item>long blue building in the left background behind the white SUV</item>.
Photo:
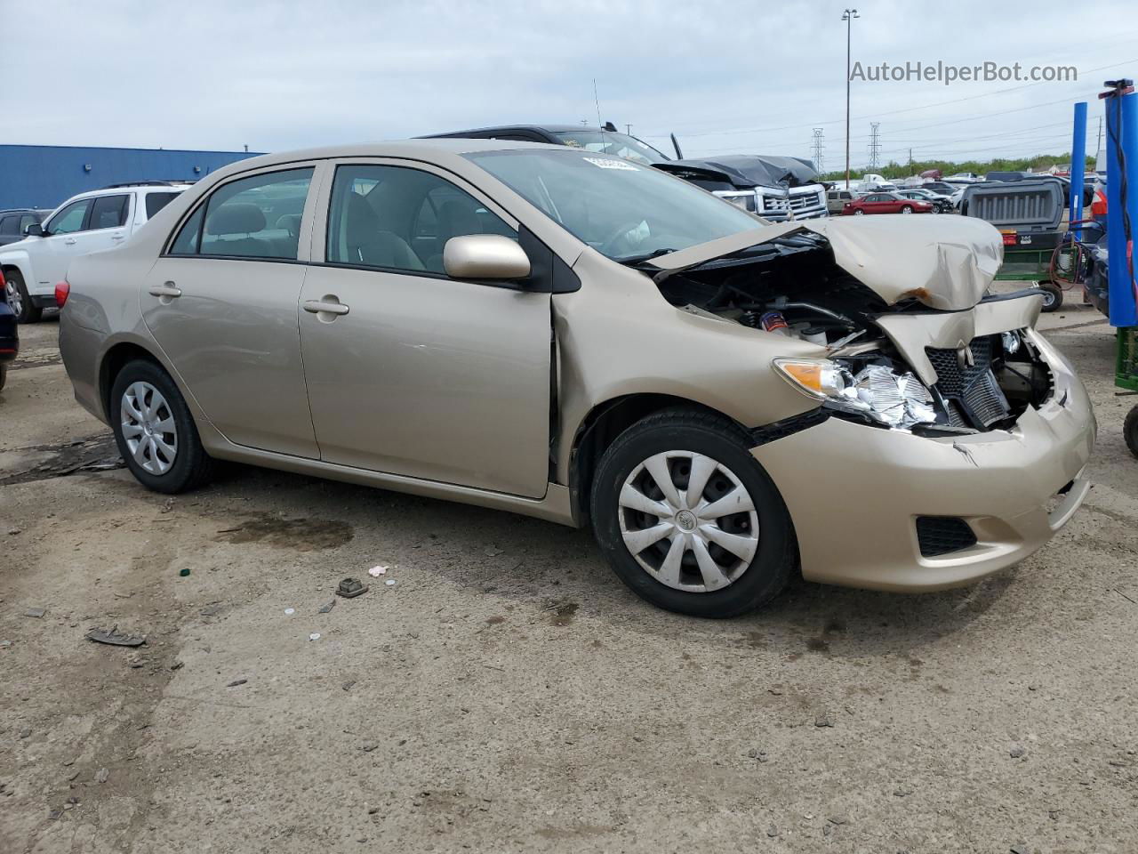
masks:
{"type": "Polygon", "coordinates": [[[0,145],[0,211],[56,207],[76,192],[130,181],[196,181],[257,151],[0,145]]]}

